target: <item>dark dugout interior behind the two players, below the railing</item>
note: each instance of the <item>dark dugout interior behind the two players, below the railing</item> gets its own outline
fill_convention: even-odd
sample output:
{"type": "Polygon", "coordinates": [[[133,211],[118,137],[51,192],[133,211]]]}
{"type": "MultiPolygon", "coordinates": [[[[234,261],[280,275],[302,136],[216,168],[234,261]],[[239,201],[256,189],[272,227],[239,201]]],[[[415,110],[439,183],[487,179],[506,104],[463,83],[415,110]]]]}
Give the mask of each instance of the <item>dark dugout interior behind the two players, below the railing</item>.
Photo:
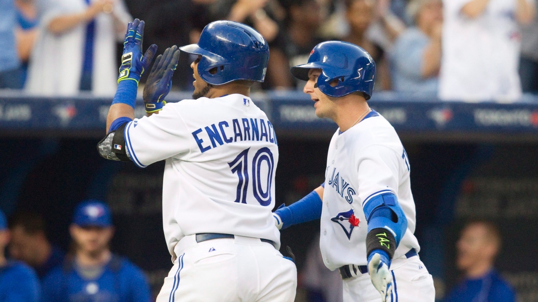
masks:
{"type": "MultiPolygon", "coordinates": [[[[278,207],[323,182],[329,138],[277,135],[278,207]]],[[[107,202],[117,229],[112,250],[144,269],[156,294],[172,266],[162,233],[164,163],[139,169],[108,161],[98,156],[97,142],[97,138],[0,139],[0,208],[8,216],[18,210],[41,213],[49,238],[67,249],[75,205],[87,198],[107,202]]],[[[462,224],[469,218],[490,218],[504,237],[499,270],[515,286],[520,301],[536,301],[538,146],[405,138],[403,142],[412,167],[420,256],[431,274],[450,289],[459,277],[454,245],[462,224]]],[[[200,219],[203,223],[204,217],[200,219]]],[[[318,227],[312,222],[282,232],[282,246],[293,249],[299,271],[318,227]]]]}

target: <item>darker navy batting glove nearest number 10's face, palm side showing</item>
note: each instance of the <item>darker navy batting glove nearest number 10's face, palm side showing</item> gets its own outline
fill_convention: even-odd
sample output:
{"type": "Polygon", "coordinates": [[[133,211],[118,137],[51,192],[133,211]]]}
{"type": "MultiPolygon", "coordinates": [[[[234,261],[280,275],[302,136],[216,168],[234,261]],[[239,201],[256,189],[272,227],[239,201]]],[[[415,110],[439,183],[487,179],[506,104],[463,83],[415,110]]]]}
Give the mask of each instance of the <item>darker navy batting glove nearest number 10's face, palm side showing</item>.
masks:
{"type": "Polygon", "coordinates": [[[160,111],[166,105],[165,97],[172,87],[172,76],[178,66],[179,52],[174,45],[155,59],[144,86],[143,98],[147,113],[160,111]]]}

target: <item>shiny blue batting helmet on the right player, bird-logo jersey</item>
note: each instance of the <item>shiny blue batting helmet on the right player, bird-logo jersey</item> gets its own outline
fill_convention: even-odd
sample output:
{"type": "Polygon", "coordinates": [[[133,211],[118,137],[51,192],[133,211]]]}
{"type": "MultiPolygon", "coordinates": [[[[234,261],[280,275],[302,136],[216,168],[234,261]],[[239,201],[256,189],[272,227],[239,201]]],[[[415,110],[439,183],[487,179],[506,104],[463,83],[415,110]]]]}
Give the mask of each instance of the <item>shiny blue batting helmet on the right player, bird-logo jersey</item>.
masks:
{"type": "Polygon", "coordinates": [[[327,41],[316,45],[308,63],[292,67],[292,74],[301,80],[308,80],[308,71],[321,68],[317,86],[330,97],[343,97],[360,91],[370,99],[376,77],[376,63],[366,50],[355,44],[342,41],[327,41]],[[330,83],[338,79],[336,86],[330,83]]]}

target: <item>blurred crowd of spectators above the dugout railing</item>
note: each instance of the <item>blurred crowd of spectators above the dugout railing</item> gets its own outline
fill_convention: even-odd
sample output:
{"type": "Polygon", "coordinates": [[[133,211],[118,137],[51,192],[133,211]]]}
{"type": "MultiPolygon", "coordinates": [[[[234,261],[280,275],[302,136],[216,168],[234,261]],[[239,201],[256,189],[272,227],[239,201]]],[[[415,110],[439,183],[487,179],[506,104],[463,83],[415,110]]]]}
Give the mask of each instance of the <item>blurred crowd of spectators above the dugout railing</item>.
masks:
{"type": "MultiPolygon", "coordinates": [[[[126,23],[146,21],[160,51],[197,41],[228,19],[269,42],[258,89],[302,89],[289,67],[326,40],[363,47],[376,90],[444,100],[513,101],[538,93],[535,0],[0,0],[0,88],[40,95],[112,95],[126,23]]],[[[175,89],[192,90],[189,58],[175,89]]]]}

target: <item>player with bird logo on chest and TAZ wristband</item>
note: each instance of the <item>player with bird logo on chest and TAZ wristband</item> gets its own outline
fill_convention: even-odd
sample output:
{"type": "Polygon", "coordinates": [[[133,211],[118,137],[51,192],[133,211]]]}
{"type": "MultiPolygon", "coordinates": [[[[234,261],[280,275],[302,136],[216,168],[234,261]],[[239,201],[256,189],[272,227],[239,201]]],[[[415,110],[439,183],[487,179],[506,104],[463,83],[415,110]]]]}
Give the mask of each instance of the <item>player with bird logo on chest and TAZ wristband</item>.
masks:
{"type": "Polygon", "coordinates": [[[321,217],[323,261],[340,271],[345,302],[433,302],[433,279],[413,235],[407,154],[391,124],[366,102],[376,74],[372,57],[351,43],[328,41],[291,71],[307,81],[303,91],[316,115],[339,128],[324,184],[275,211],[277,227],[321,217]]]}

